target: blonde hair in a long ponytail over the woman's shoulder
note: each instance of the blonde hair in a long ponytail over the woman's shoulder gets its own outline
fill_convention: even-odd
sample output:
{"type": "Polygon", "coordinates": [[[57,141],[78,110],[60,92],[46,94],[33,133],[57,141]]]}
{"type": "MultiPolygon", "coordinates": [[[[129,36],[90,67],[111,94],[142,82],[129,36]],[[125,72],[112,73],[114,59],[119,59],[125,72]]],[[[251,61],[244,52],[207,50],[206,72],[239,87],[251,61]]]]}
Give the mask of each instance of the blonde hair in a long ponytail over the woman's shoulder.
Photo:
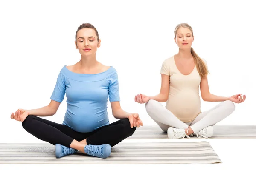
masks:
{"type": "MultiPolygon", "coordinates": [[[[189,26],[189,24],[187,23],[180,23],[176,26],[175,30],[174,30],[174,36],[176,37],[177,35],[177,30],[179,28],[189,28],[189,30],[192,32],[192,36],[194,36],[193,34],[193,29],[191,26],[189,26]]],[[[204,61],[198,56],[198,54],[195,53],[194,49],[191,47],[191,54],[195,60],[195,65],[196,68],[198,70],[198,73],[201,75],[201,77],[205,77],[208,74],[208,70],[207,70],[207,66],[205,65],[204,61]]]]}

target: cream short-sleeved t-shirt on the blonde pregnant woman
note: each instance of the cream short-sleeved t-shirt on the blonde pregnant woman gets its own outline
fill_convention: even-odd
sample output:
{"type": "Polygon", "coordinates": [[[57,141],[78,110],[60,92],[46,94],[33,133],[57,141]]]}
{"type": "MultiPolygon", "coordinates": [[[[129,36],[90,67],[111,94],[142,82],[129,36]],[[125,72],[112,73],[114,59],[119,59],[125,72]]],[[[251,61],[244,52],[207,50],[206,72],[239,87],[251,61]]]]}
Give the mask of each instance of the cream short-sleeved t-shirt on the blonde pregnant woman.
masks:
{"type": "MultiPolygon", "coordinates": [[[[205,59],[202,60],[207,66],[205,59]]],[[[174,56],[172,56],[163,62],[160,73],[170,76],[169,97],[166,101],[166,109],[171,111],[182,122],[194,120],[201,113],[201,100],[199,96],[201,77],[196,65],[190,74],[184,75],[178,70],[174,56]]]]}

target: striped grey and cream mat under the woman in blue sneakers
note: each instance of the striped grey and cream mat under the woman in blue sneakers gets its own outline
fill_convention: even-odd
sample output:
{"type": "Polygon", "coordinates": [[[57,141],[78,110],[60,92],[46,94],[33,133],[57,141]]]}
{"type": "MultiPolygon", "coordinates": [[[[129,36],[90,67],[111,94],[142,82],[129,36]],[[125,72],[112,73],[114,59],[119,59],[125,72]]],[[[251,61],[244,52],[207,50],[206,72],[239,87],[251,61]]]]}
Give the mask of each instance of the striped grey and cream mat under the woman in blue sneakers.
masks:
{"type": "Polygon", "coordinates": [[[124,143],[106,159],[81,152],[55,157],[48,143],[2,143],[0,164],[212,164],[222,163],[208,142],[124,143]]]}

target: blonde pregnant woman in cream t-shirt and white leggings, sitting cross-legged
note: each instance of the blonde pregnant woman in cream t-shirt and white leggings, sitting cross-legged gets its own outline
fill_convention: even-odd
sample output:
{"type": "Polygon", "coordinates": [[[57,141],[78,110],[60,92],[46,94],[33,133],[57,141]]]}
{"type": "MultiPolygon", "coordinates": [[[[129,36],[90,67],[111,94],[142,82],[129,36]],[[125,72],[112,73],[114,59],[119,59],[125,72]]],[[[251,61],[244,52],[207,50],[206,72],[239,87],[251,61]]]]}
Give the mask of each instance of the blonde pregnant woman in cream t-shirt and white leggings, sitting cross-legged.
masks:
{"type": "Polygon", "coordinates": [[[236,94],[230,97],[216,96],[209,92],[207,62],[191,47],[193,30],[187,23],[176,26],[175,43],[178,54],[169,57],[161,68],[161,90],[156,96],[138,94],[135,101],[146,103],[148,115],[167,132],[169,139],[189,136],[209,138],[213,125],[229,116],[235,110],[235,103],[244,102],[246,96],[236,94]],[[201,112],[199,96],[208,102],[221,102],[214,108],[201,112]],[[164,108],[160,102],[166,102],[164,108]]]}

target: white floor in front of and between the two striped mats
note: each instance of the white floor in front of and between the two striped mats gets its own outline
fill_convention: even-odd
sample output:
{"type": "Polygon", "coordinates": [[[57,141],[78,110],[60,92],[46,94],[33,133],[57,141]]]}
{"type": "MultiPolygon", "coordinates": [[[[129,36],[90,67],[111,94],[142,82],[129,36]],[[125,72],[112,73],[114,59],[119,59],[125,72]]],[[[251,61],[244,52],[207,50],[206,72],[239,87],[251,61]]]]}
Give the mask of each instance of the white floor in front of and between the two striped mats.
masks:
{"type": "MultiPolygon", "coordinates": [[[[155,139],[155,140],[124,140],[123,142],[198,142],[207,141],[209,142],[215,152],[220,157],[222,164],[101,164],[101,165],[74,165],[74,164],[16,164],[16,165],[6,165],[0,164],[0,170],[7,170],[11,167],[18,168],[19,170],[35,170],[35,169],[58,169],[58,170],[95,170],[95,169],[111,169],[111,170],[145,170],[146,169],[165,169],[167,168],[179,168],[179,169],[189,169],[189,170],[227,170],[231,168],[245,168],[245,166],[252,165],[256,163],[255,153],[256,153],[256,139],[155,139]],[[59,169],[61,168],[61,169],[59,169]]],[[[253,168],[251,168],[253,169],[253,168]]]]}

